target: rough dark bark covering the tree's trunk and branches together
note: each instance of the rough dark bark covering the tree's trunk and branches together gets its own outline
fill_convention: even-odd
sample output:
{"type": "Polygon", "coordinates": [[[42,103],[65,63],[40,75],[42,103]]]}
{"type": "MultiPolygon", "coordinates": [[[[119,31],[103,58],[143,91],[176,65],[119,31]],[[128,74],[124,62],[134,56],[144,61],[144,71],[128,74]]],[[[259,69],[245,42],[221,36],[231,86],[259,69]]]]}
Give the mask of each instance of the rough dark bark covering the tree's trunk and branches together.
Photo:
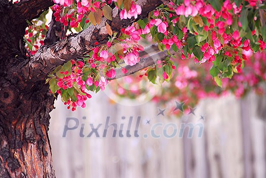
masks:
{"type": "MultiPolygon", "coordinates": [[[[142,7],[142,18],[162,2],[139,0],[137,3],[142,7]]],[[[47,45],[26,57],[23,43],[26,20],[38,17],[52,5],[52,0],[21,0],[16,5],[0,0],[0,177],[3,178],[55,177],[48,138],[49,113],[54,109],[55,98],[45,84],[47,75],[57,65],[84,56],[95,47],[96,41],[105,44],[106,22],[117,32],[133,23],[120,20],[118,10],[114,9],[113,21],[103,18],[100,25],[61,41],[53,34],[55,29],[49,29],[47,45]]],[[[58,25],[50,26],[54,27],[58,25]]],[[[166,53],[161,52],[159,56],[164,58],[166,53]]],[[[153,64],[145,59],[142,62],[140,68],[132,71],[153,64]]]]}

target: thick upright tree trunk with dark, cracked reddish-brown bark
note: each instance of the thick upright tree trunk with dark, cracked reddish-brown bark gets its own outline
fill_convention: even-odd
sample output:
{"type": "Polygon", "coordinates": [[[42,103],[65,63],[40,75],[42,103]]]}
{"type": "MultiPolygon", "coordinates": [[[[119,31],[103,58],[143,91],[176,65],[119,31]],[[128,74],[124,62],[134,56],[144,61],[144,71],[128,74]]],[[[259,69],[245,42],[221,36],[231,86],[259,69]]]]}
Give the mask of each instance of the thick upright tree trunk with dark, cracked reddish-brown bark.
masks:
{"type": "Polygon", "coordinates": [[[0,0],[0,177],[55,177],[48,138],[54,97],[45,81],[21,74],[27,24],[15,7],[0,0]]]}

